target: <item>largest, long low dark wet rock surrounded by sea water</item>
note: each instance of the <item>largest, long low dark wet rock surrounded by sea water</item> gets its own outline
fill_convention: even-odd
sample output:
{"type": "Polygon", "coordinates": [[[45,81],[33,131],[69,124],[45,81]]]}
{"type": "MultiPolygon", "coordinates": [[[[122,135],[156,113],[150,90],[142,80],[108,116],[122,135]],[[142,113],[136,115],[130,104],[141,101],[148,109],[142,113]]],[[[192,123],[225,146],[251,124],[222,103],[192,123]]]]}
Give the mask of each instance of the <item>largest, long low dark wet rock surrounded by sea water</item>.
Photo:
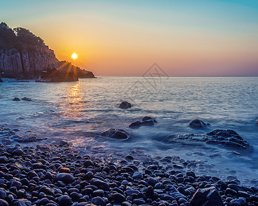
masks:
{"type": "Polygon", "coordinates": [[[164,141],[168,143],[182,142],[183,144],[204,142],[209,145],[222,145],[234,150],[248,150],[250,152],[253,150],[252,146],[234,130],[213,130],[205,134],[169,135],[164,141]]]}

